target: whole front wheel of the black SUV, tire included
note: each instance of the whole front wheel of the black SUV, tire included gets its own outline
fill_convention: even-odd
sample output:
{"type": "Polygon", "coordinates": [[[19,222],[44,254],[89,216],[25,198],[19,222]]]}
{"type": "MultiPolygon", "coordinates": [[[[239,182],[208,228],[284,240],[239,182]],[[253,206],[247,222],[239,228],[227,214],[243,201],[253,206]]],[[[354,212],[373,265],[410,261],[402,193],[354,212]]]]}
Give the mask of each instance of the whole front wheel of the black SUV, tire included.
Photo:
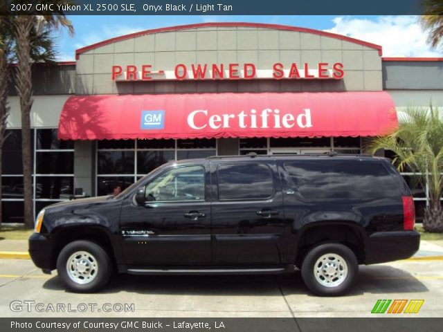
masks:
{"type": "Polygon", "coordinates": [[[108,282],[112,273],[111,259],[109,259],[107,252],[96,243],[84,240],[73,241],[64,246],[60,255],[58,255],[57,273],[64,286],[70,291],[75,293],[93,293],[108,282]],[[84,252],[84,255],[72,257],[76,252],[84,252]],[[79,272],[72,268],[74,265],[72,263],[73,260],[80,260],[82,268],[87,269],[86,273],[85,271],[79,272]],[[71,261],[71,271],[68,267],[68,261],[71,261]],[[95,271],[97,272],[95,273],[95,271]],[[75,275],[78,277],[75,277],[75,275]],[[91,280],[88,281],[88,279],[91,280]],[[78,280],[78,282],[75,280],[78,280]]]}

